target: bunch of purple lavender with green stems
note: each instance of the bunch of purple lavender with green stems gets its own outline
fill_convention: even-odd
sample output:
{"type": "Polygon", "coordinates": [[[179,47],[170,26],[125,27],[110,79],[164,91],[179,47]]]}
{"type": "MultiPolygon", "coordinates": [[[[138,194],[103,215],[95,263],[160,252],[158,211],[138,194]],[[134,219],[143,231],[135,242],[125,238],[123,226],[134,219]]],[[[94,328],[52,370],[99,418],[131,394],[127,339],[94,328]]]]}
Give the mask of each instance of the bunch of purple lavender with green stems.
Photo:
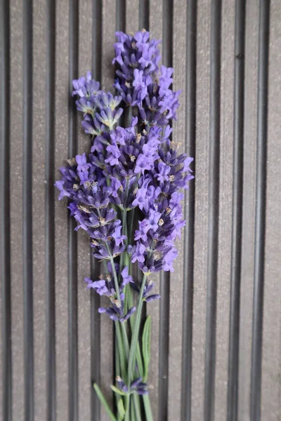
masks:
{"type": "Polygon", "coordinates": [[[108,298],[108,307],[98,311],[115,322],[116,383],[111,388],[117,413],[95,384],[96,393],[110,420],[141,421],[144,409],[151,421],[151,321],[146,319],[139,338],[142,309],[144,302],[160,298],[152,293],[150,276],[174,270],[175,241],[185,225],[181,189],[193,178],[192,158],[178,154],[178,142],[171,140],[180,92],[171,89],[174,69],[158,67],[159,41],[145,30],[116,36],[116,95],[101,91],[90,72],[73,81],[91,152],[69,159],[55,186],[59,199],[69,199],[75,229],[89,234],[93,256],[102,262],[100,279],[85,281],[108,298]]]}

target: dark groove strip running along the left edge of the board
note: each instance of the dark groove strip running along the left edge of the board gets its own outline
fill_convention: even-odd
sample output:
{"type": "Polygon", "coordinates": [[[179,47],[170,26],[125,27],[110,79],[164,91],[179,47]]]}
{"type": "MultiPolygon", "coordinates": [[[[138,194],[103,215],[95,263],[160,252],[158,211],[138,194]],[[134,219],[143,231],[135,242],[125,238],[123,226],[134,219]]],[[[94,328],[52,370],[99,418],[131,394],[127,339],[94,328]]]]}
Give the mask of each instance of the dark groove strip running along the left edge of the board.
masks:
{"type": "Polygon", "coordinates": [[[0,2],[0,267],[1,267],[1,419],[12,419],[12,342],[11,342],[11,218],[10,218],[10,2],[0,2]]]}

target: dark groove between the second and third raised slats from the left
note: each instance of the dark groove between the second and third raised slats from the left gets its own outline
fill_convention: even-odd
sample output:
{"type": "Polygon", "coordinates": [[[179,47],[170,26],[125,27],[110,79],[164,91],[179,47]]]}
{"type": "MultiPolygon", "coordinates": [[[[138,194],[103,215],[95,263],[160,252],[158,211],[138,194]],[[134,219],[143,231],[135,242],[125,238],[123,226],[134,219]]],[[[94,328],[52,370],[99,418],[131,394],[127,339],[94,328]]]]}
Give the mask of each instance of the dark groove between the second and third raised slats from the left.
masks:
{"type": "Polygon", "coordinates": [[[55,382],[55,0],[46,3],[45,285],[47,420],[56,418],[55,382]]]}

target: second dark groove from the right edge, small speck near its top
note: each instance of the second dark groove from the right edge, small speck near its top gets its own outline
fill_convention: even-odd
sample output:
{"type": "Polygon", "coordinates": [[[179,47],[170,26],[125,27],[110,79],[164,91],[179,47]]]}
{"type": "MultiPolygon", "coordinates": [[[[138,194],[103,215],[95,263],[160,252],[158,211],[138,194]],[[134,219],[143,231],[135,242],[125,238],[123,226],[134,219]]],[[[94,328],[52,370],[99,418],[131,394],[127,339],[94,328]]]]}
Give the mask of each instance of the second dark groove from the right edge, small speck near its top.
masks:
{"type": "Polygon", "coordinates": [[[230,324],[228,345],[228,421],[237,420],[240,283],[242,246],[242,191],[244,141],[245,2],[235,1],[235,67],[233,114],[233,220],[230,273],[230,324]]]}

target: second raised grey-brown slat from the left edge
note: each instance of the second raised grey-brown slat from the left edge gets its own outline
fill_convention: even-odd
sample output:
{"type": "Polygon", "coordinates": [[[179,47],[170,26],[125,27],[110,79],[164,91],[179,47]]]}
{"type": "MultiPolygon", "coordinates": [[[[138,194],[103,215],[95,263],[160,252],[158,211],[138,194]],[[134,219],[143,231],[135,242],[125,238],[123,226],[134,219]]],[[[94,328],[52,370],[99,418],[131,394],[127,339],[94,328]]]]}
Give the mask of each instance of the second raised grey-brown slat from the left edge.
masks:
{"type": "MultiPolygon", "coordinates": [[[[48,419],[46,376],[52,372],[46,366],[46,287],[45,284],[45,138],[50,109],[46,109],[46,2],[33,4],[33,122],[32,122],[32,242],[34,298],[34,420],[48,419]]],[[[52,184],[53,188],[53,184],[52,184]]],[[[53,220],[53,218],[52,218],[53,220]]],[[[54,282],[54,279],[53,279],[54,282]]],[[[55,392],[55,389],[54,389],[55,392]]]]}

